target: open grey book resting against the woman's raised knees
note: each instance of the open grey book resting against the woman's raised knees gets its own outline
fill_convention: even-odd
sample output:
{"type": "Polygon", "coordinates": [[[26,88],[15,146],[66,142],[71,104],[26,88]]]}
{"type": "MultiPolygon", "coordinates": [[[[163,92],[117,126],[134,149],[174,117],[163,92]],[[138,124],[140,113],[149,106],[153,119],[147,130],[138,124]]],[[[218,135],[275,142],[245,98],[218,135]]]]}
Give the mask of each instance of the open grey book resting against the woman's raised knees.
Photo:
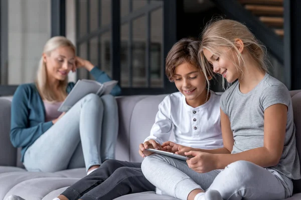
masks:
{"type": "Polygon", "coordinates": [[[58,108],[60,112],[68,111],[77,101],[89,93],[95,93],[99,96],[109,94],[117,84],[117,80],[100,83],[95,80],[81,79],[76,82],[66,99],[58,108]]]}

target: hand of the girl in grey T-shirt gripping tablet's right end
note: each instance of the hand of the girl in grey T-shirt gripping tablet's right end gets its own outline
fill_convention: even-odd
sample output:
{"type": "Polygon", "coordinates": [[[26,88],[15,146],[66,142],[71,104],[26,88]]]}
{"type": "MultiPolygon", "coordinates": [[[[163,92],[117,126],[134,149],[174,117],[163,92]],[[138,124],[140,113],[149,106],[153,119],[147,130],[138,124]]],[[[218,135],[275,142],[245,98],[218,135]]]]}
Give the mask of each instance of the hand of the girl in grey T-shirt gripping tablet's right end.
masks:
{"type": "Polygon", "coordinates": [[[217,154],[206,153],[201,151],[189,151],[185,152],[186,156],[193,156],[187,160],[188,166],[199,173],[206,173],[217,169],[217,154]]]}

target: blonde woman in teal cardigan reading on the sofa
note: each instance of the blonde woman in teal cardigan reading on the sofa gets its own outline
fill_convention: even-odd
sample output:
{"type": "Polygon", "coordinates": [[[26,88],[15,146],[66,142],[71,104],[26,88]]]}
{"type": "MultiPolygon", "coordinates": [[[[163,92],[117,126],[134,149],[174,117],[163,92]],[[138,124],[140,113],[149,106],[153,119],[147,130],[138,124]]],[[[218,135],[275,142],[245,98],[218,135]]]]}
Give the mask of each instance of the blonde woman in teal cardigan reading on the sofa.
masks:
{"type": "Polygon", "coordinates": [[[118,132],[117,103],[113,95],[88,94],[68,112],[57,111],[74,86],[70,70],[85,67],[99,82],[109,81],[90,61],[75,56],[75,46],[63,36],[47,41],[35,83],[20,85],[13,97],[11,141],[22,147],[21,161],[30,171],[54,172],[86,166],[96,169],[115,157],[118,132]]]}

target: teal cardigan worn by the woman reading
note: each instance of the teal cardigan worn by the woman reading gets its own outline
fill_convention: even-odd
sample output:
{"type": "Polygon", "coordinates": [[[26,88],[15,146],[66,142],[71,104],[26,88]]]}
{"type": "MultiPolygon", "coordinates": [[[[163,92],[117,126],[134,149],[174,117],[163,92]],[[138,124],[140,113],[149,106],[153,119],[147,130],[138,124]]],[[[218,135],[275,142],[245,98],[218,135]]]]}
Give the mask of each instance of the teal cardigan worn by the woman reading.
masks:
{"type": "MultiPolygon", "coordinates": [[[[111,78],[104,72],[94,67],[90,73],[98,82],[107,82],[111,78]]],[[[69,82],[67,93],[71,91],[74,82],[69,82]]],[[[111,94],[120,95],[121,89],[116,85],[111,94]]],[[[22,84],[18,86],[12,101],[11,109],[11,142],[15,147],[22,147],[21,161],[24,153],[44,132],[52,125],[52,121],[45,122],[44,102],[35,83],[22,84]]]]}

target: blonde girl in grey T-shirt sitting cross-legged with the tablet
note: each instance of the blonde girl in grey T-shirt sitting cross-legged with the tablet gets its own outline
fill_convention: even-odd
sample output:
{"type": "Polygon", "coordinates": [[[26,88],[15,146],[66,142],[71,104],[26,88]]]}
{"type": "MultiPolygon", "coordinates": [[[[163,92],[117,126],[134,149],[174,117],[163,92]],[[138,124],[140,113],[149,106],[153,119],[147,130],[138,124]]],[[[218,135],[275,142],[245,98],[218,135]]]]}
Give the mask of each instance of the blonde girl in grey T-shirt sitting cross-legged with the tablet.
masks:
{"type": "Polygon", "coordinates": [[[185,155],[193,156],[187,163],[147,156],[143,174],[185,200],[291,196],[291,179],[300,178],[291,98],[267,73],[264,47],[245,25],[224,19],[206,26],[199,56],[203,68],[233,83],[220,99],[224,147],[186,147],[185,155]]]}

